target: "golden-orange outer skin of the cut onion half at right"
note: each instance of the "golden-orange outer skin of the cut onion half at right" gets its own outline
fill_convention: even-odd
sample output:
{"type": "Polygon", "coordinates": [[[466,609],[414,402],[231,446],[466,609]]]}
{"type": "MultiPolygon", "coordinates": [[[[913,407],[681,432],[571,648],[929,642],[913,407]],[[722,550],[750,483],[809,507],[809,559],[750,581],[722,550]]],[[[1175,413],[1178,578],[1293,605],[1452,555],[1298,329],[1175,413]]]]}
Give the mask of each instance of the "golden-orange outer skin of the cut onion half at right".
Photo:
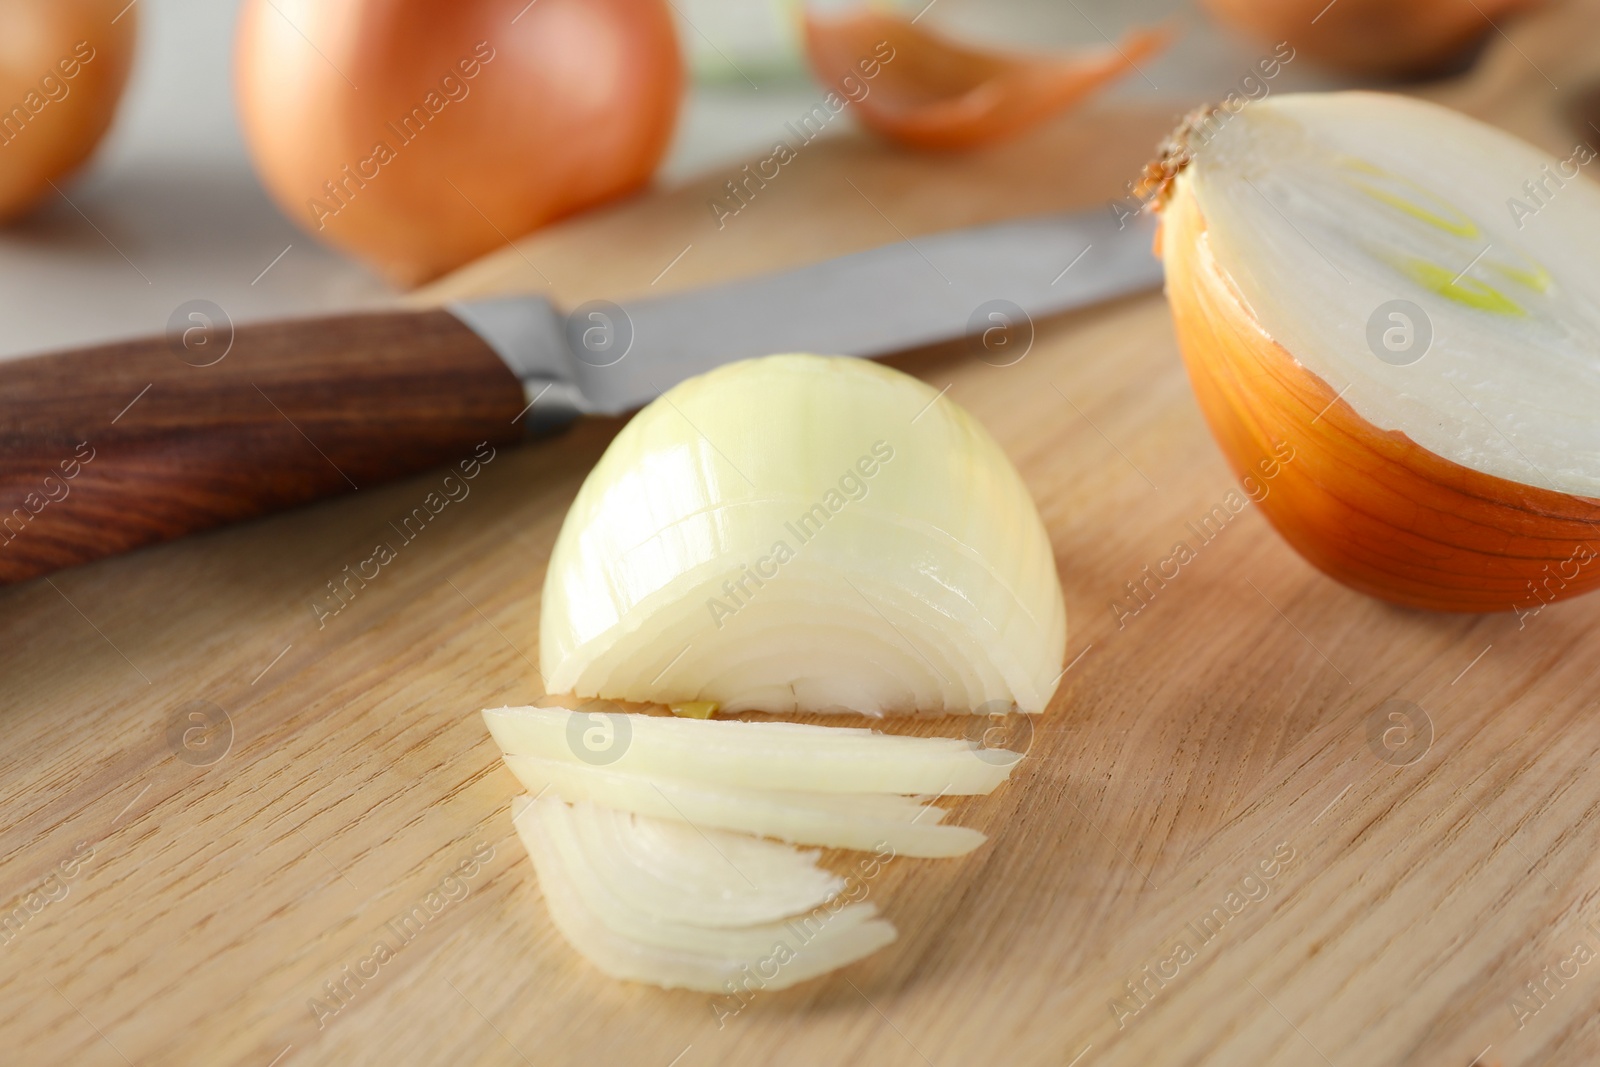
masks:
{"type": "Polygon", "coordinates": [[[1187,174],[1168,176],[1157,251],[1179,350],[1235,474],[1294,450],[1261,501],[1310,563],[1435,611],[1528,611],[1600,585],[1600,501],[1522,485],[1381,430],[1272,341],[1203,250],[1187,174]]]}

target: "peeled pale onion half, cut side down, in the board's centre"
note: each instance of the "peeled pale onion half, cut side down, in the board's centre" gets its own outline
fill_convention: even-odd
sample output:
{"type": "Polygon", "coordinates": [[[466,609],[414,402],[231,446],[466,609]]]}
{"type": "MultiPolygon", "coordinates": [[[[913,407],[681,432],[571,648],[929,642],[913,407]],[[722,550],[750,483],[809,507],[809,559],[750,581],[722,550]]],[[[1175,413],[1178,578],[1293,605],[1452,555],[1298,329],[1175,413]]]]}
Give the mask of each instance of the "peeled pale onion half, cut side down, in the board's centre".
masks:
{"type": "Polygon", "coordinates": [[[994,438],[840,357],[746,360],[640,411],[544,581],[552,693],[725,712],[1040,712],[1066,606],[994,438]]]}

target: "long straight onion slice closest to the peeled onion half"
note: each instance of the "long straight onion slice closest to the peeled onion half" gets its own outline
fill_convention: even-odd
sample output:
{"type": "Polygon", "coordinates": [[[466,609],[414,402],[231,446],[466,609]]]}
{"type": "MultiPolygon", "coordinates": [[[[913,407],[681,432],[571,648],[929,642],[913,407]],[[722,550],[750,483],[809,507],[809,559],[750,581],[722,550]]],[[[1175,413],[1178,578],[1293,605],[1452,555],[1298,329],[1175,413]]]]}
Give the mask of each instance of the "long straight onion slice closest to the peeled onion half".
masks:
{"type": "Polygon", "coordinates": [[[1021,752],[979,750],[957,737],[899,737],[845,726],[638,713],[618,720],[616,715],[621,712],[501,707],[485,710],[483,720],[507,755],[581,760],[586,731],[600,729],[613,745],[605,753],[605,766],[611,771],[763,790],[989,793],[1022,758],[1021,752]]]}

